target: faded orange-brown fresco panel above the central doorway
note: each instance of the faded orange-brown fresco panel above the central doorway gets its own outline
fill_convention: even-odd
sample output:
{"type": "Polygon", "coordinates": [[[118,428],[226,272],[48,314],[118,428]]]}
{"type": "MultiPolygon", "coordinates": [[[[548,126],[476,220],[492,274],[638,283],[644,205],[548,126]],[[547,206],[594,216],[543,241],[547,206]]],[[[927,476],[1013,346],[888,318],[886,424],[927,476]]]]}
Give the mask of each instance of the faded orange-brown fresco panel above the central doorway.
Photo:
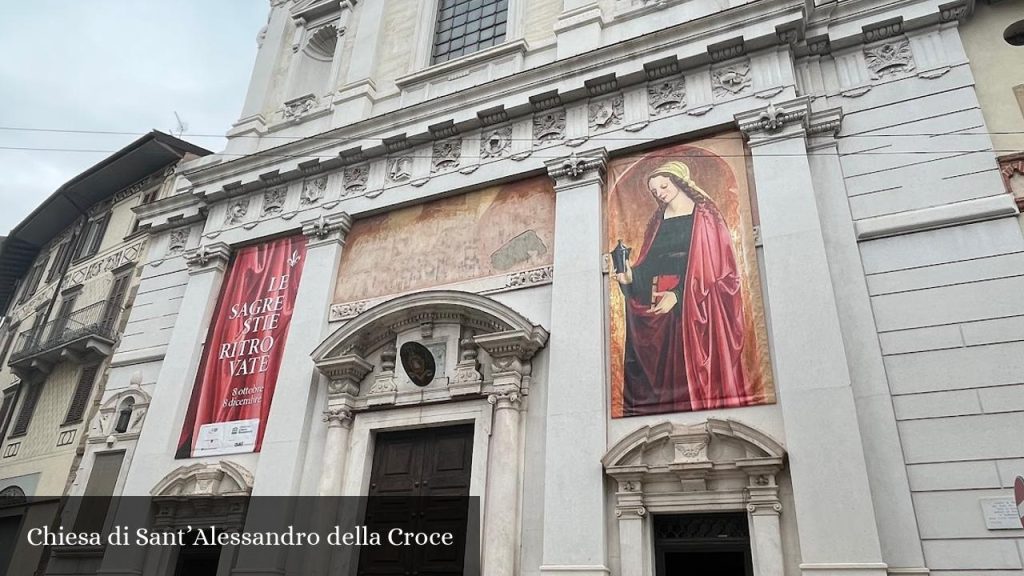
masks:
{"type": "Polygon", "coordinates": [[[554,236],[555,193],[547,176],[359,219],[345,241],[334,301],[549,265],[554,236]]]}

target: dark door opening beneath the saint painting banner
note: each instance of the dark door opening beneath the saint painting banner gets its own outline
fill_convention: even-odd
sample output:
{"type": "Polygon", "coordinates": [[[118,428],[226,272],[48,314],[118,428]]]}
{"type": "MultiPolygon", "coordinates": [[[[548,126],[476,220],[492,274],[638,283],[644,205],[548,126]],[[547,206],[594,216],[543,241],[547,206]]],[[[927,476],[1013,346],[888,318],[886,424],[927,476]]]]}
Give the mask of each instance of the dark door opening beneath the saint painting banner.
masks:
{"type": "Polygon", "coordinates": [[[744,513],[654,516],[657,576],[753,576],[744,513]]]}

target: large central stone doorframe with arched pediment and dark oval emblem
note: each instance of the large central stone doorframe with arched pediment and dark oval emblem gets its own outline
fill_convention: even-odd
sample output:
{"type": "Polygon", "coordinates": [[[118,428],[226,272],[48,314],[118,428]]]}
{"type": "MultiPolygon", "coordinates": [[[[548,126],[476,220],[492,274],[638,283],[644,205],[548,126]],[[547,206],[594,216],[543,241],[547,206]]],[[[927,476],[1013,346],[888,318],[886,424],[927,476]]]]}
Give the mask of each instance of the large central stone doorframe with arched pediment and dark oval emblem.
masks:
{"type": "MultiPolygon", "coordinates": [[[[482,573],[518,574],[521,412],[529,395],[534,356],[547,341],[546,329],[511,307],[456,290],[398,296],[347,322],[311,355],[327,384],[324,421],[328,429],[318,493],[365,493],[368,430],[387,427],[389,419],[415,414],[399,425],[427,423],[422,418],[429,418],[430,424],[474,422],[473,469],[485,474],[482,573]],[[436,343],[438,337],[445,351],[457,353],[443,356],[445,375],[434,377],[422,388],[407,381],[397,361],[402,342],[436,343]],[[489,424],[489,438],[480,434],[484,422],[489,424]],[[481,446],[484,442],[486,447],[481,446]],[[365,479],[356,483],[360,488],[354,493],[346,492],[344,486],[352,448],[365,479]],[[477,456],[485,456],[486,461],[477,456]]],[[[470,493],[479,495],[475,490],[478,475],[474,476],[470,493]]]]}

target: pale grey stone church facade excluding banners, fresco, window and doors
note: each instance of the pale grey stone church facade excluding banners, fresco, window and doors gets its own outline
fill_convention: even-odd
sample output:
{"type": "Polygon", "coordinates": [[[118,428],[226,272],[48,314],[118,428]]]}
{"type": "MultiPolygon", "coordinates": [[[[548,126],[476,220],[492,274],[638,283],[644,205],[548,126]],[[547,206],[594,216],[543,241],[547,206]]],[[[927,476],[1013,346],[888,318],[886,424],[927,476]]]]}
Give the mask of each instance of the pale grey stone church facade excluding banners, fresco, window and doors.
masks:
{"type": "Polygon", "coordinates": [[[227,152],[273,153],[197,160],[138,211],[114,389],[164,417],[122,493],[216,471],[232,493],[364,495],[379,434],[459,422],[483,502],[467,562],[488,576],[657,576],[655,519],[709,511],[743,515],[755,574],[1021,573],[1024,532],[981,508],[1024,474],[1024,238],[976,130],[973,3],[556,4],[510,0],[503,44],[427,66],[433,2],[271,2],[227,152]],[[306,94],[310,70],[328,84],[306,94]],[[777,403],[612,418],[609,159],[736,129],[777,403]],[[334,301],[360,219],[538,173],[550,268],[334,301]],[[299,231],[262,451],[176,460],[231,250],[299,231]],[[409,342],[444,351],[423,388],[395,361],[409,342]]]}

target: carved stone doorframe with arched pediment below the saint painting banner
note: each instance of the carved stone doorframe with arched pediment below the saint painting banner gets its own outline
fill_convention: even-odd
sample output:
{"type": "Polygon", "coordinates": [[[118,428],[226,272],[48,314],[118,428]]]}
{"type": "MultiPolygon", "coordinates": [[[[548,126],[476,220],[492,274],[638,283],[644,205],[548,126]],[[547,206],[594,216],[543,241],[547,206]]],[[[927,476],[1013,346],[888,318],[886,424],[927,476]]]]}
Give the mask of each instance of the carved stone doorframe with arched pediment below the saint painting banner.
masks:
{"type": "Polygon", "coordinates": [[[785,450],[735,420],[662,422],[618,441],[601,459],[617,483],[622,576],[652,576],[651,513],[746,510],[758,576],[782,576],[776,478],[785,450]]]}

